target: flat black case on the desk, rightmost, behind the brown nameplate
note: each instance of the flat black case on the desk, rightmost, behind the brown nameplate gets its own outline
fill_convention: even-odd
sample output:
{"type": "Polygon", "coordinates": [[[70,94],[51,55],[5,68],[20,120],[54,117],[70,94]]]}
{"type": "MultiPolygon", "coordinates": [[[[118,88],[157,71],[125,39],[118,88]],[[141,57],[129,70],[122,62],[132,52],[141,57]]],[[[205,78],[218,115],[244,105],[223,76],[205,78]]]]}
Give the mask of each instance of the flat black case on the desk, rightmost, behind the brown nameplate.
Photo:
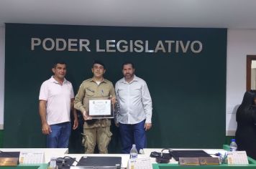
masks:
{"type": "Polygon", "coordinates": [[[169,151],[169,153],[176,161],[178,161],[178,158],[211,157],[204,150],[173,150],[169,151]]]}

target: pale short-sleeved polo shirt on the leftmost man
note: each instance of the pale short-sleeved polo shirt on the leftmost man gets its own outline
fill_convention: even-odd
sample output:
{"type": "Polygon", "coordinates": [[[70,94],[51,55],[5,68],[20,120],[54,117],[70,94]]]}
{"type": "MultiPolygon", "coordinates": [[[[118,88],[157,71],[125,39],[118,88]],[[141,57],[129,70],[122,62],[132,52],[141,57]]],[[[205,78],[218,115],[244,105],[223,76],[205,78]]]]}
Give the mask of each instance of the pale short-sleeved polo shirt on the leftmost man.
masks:
{"type": "Polygon", "coordinates": [[[74,98],[72,84],[64,79],[61,85],[53,77],[42,83],[39,100],[47,101],[46,120],[48,125],[70,122],[70,100],[74,98]]]}

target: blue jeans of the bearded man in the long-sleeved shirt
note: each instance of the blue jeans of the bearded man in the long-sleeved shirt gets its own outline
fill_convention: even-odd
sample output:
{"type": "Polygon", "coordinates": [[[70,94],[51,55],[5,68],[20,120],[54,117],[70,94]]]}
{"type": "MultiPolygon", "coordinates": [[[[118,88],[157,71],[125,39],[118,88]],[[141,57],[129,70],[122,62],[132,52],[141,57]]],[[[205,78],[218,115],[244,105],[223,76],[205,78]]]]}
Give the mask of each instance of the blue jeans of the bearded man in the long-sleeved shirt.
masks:
{"type": "Polygon", "coordinates": [[[145,120],[134,125],[119,122],[119,132],[121,135],[122,153],[129,154],[133,144],[136,145],[138,153],[140,149],[146,148],[145,120]]]}

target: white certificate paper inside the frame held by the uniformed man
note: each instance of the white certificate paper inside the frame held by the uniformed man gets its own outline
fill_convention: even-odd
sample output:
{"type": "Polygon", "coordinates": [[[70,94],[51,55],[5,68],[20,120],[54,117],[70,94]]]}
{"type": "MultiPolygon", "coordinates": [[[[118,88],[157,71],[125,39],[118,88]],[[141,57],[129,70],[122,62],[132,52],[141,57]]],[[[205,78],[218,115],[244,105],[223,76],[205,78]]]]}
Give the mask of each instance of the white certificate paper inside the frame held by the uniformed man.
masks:
{"type": "Polygon", "coordinates": [[[89,100],[89,115],[111,115],[111,101],[89,100]]]}

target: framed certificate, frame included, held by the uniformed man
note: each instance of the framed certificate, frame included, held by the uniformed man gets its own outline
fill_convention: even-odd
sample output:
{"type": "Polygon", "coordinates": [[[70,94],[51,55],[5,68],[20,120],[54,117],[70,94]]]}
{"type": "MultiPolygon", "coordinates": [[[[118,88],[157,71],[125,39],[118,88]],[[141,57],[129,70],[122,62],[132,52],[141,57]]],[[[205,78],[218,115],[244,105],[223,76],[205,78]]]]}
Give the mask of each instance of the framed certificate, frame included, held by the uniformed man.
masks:
{"type": "Polygon", "coordinates": [[[88,115],[93,119],[114,118],[111,100],[102,97],[90,98],[88,115]]]}

